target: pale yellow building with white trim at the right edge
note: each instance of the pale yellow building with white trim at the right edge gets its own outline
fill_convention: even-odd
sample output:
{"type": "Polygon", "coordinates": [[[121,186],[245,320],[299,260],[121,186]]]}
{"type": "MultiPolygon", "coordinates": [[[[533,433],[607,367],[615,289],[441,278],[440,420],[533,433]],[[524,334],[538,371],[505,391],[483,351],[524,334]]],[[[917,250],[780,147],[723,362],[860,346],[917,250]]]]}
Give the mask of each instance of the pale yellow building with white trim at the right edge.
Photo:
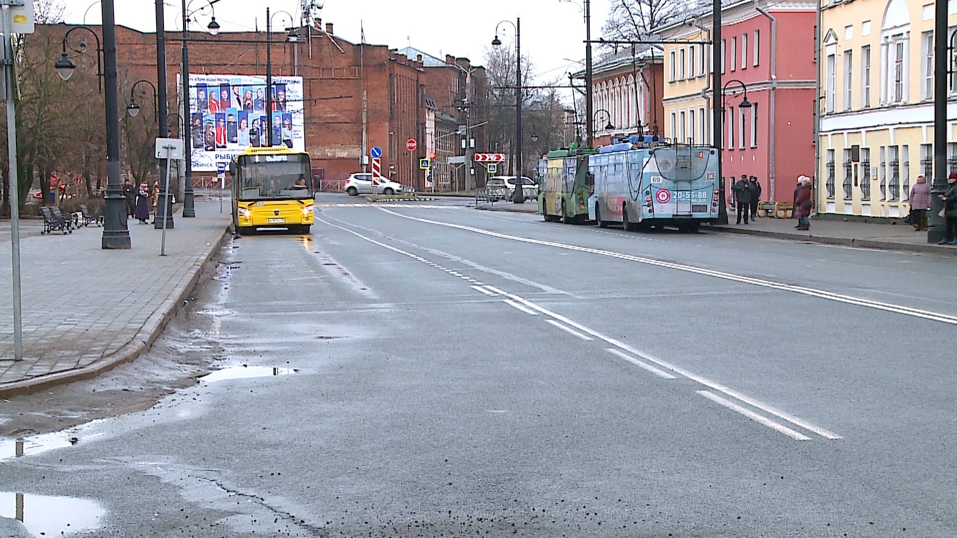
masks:
{"type": "MultiPolygon", "coordinates": [[[[948,37],[957,3],[949,13],[948,37]]],[[[933,175],[934,4],[832,1],[820,16],[817,211],[904,216],[917,176],[933,175]]],[[[951,79],[951,98],[955,90],[951,79]]],[[[947,156],[957,169],[957,145],[948,142],[947,156]]]]}

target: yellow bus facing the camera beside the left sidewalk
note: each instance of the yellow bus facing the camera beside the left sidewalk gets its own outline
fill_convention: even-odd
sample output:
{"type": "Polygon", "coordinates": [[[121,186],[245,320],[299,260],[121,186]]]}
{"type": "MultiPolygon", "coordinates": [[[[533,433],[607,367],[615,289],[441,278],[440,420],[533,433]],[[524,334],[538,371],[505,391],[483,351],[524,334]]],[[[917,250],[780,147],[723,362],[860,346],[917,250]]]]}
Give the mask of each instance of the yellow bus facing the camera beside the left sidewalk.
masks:
{"type": "Polygon", "coordinates": [[[250,147],[230,162],[230,174],[237,235],[259,229],[309,233],[315,200],[308,153],[250,147]]]}

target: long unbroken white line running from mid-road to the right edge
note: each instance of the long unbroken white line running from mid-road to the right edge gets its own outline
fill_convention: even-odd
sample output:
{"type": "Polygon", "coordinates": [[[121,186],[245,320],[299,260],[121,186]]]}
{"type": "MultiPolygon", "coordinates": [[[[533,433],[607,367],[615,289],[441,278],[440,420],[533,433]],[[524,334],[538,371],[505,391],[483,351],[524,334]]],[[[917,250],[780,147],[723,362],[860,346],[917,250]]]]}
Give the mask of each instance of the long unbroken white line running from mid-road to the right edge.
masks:
{"type": "Polygon", "coordinates": [[[820,298],[820,299],[826,299],[826,300],[828,300],[828,301],[836,301],[836,302],[838,302],[838,303],[856,304],[856,305],[858,305],[858,306],[866,306],[866,307],[868,307],[868,308],[876,308],[876,309],[884,310],[884,311],[887,311],[887,312],[894,312],[894,313],[903,314],[903,315],[906,315],[906,316],[914,316],[914,317],[917,317],[917,318],[923,318],[923,319],[925,319],[925,320],[932,320],[932,321],[941,322],[941,323],[945,323],[945,324],[957,325],[957,316],[951,316],[951,315],[943,314],[943,313],[940,313],[940,312],[932,312],[932,311],[929,311],[929,310],[922,310],[922,309],[920,309],[920,308],[911,308],[911,307],[909,307],[909,306],[902,306],[902,305],[900,305],[900,304],[881,303],[881,302],[879,302],[879,301],[871,301],[871,300],[869,300],[869,299],[863,299],[863,298],[859,298],[859,297],[852,297],[852,296],[849,296],[849,295],[839,294],[839,293],[830,292],[830,291],[826,291],[826,290],[814,289],[814,288],[809,288],[809,287],[804,287],[804,286],[795,286],[795,285],[786,284],[786,283],[782,283],[782,282],[775,282],[775,281],[773,281],[773,280],[755,279],[755,278],[752,278],[752,277],[746,277],[746,276],[744,276],[744,275],[735,275],[735,274],[733,274],[733,273],[725,273],[725,272],[723,272],[723,271],[715,271],[715,270],[712,270],[712,269],[704,269],[704,268],[701,268],[701,267],[695,267],[695,266],[686,265],[686,264],[683,264],[683,263],[674,263],[674,262],[671,262],[671,261],[664,261],[664,260],[661,260],[661,259],[644,258],[644,257],[640,257],[640,256],[633,256],[633,255],[630,255],[630,254],[623,254],[623,253],[618,253],[618,252],[613,252],[613,251],[608,251],[608,250],[603,250],[603,249],[594,249],[594,248],[582,247],[582,246],[578,246],[578,245],[571,245],[571,244],[568,244],[568,243],[559,243],[559,242],[555,242],[555,241],[545,241],[545,240],[542,240],[542,239],[533,239],[533,238],[531,238],[531,237],[520,237],[520,236],[518,236],[518,235],[501,234],[501,233],[499,233],[499,232],[492,232],[492,231],[489,231],[489,230],[482,230],[481,228],[474,228],[474,227],[472,227],[472,226],[463,226],[463,225],[460,225],[460,224],[453,224],[453,223],[451,223],[451,222],[442,222],[442,221],[438,221],[438,220],[431,220],[431,219],[428,219],[428,218],[418,218],[418,217],[415,217],[415,216],[409,216],[409,215],[405,215],[405,214],[402,214],[402,213],[391,212],[391,211],[386,210],[386,209],[383,209],[383,210],[381,210],[381,211],[386,212],[386,213],[390,213],[390,214],[394,214],[394,215],[399,216],[399,217],[402,217],[402,218],[408,218],[408,219],[410,219],[410,220],[415,220],[415,221],[418,221],[418,222],[424,222],[424,223],[426,223],[426,224],[434,224],[434,225],[437,225],[437,226],[445,226],[445,227],[447,227],[447,228],[456,228],[456,229],[458,229],[458,230],[465,230],[465,231],[467,231],[467,232],[475,232],[476,234],[491,235],[491,236],[493,236],[493,237],[501,237],[501,238],[503,238],[503,239],[511,239],[511,240],[515,240],[515,241],[522,241],[522,242],[525,242],[525,243],[532,243],[532,244],[536,244],[536,245],[545,245],[545,246],[557,247],[557,248],[562,248],[562,249],[567,249],[567,250],[573,250],[573,251],[578,251],[578,252],[586,252],[586,253],[590,253],[590,254],[597,254],[597,255],[601,255],[601,256],[608,256],[608,257],[611,257],[611,258],[627,259],[627,260],[630,260],[630,261],[637,261],[637,262],[639,262],[639,263],[646,263],[646,264],[649,264],[649,265],[657,265],[658,267],[666,267],[666,268],[669,268],[669,269],[676,269],[676,270],[685,271],[685,272],[688,272],[688,273],[695,273],[695,274],[698,274],[698,275],[703,275],[703,276],[705,276],[705,277],[714,277],[714,278],[723,279],[723,280],[733,280],[733,281],[742,282],[742,283],[746,283],[746,284],[752,284],[752,285],[756,285],[756,286],[763,286],[763,287],[768,287],[768,288],[777,289],[777,290],[782,290],[782,291],[790,291],[790,292],[793,292],[793,293],[799,293],[799,294],[802,294],[802,295],[808,295],[808,296],[817,297],[817,298],[820,298]]]}

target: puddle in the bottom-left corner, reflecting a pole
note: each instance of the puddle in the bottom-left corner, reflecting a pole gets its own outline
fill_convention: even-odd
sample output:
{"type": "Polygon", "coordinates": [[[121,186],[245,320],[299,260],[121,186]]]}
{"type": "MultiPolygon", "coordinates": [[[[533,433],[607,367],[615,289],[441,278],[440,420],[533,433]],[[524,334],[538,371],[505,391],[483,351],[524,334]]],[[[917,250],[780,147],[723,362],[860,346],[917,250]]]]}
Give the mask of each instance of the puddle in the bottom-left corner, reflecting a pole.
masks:
{"type": "Polygon", "coordinates": [[[0,518],[15,519],[32,536],[60,536],[100,527],[106,510],[88,499],[0,491],[0,518]]]}

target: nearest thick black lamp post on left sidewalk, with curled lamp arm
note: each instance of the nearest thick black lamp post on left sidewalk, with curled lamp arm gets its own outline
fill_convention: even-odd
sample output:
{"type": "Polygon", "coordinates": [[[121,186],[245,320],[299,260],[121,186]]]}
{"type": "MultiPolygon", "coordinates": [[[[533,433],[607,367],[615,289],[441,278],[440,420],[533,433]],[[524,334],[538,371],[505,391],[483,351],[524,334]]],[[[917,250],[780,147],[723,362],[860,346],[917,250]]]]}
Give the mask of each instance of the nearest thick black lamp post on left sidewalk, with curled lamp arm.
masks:
{"type": "MultiPolygon", "coordinates": [[[[102,0],[103,41],[100,47],[100,37],[85,26],[71,28],[63,34],[63,52],[54,66],[60,78],[66,80],[73,75],[77,64],[66,54],[66,41],[71,32],[86,30],[97,39],[98,73],[102,75],[104,103],[106,106],[106,195],[103,197],[103,235],[100,247],[104,249],[130,248],[129,230],[126,228],[126,197],[122,193],[120,180],[120,110],[117,97],[117,36],[116,22],[113,16],[113,0],[102,0]],[[100,67],[100,52],[103,53],[102,67],[100,67]]],[[[80,49],[85,49],[83,43],[80,49]]],[[[102,87],[100,86],[100,87],[102,87]]]]}

